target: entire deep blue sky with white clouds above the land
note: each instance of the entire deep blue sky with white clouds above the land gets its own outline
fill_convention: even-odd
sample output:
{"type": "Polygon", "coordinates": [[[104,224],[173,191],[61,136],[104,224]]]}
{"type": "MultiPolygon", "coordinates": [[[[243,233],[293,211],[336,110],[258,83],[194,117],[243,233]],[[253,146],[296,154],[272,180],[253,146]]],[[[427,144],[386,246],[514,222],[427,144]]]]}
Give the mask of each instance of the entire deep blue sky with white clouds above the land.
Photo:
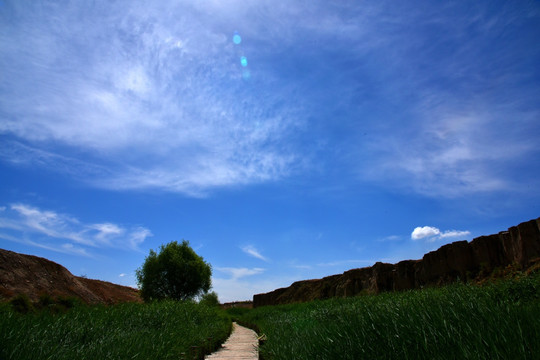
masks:
{"type": "Polygon", "coordinates": [[[0,247],[221,301],[540,216],[538,1],[0,0],[0,247]]]}

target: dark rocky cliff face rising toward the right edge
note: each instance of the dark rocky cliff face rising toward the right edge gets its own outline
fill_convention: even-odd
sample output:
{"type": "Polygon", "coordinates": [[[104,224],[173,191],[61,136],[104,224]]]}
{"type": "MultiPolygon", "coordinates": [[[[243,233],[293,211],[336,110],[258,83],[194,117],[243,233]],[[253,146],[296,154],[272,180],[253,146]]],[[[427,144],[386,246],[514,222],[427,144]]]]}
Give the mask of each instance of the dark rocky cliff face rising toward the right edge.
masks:
{"type": "Polygon", "coordinates": [[[424,255],[421,260],[397,264],[378,262],[341,275],[293,283],[253,296],[253,306],[348,297],[441,285],[459,279],[487,276],[495,268],[516,265],[523,269],[540,261],[540,218],[513,226],[499,234],[471,242],[457,241],[424,255]]]}

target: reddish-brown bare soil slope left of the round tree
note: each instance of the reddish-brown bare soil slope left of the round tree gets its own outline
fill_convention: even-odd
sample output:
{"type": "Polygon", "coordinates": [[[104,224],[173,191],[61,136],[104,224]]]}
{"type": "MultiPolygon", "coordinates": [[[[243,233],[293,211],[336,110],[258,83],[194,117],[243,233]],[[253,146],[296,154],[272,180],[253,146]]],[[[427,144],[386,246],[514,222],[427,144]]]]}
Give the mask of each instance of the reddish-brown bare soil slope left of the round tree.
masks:
{"type": "Polygon", "coordinates": [[[0,249],[0,301],[16,295],[77,297],[88,304],[140,302],[136,289],[74,276],[65,267],[32,255],[0,249]]]}

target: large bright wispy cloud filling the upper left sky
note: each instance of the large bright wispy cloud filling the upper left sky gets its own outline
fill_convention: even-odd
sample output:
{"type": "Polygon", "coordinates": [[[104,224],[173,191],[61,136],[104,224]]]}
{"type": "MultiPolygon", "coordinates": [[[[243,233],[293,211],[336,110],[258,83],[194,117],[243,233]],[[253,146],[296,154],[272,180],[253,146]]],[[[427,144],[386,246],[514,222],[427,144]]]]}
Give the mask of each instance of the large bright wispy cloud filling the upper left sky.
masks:
{"type": "Polygon", "coordinates": [[[75,16],[80,9],[66,4],[49,9],[55,22],[46,7],[13,7],[19,20],[0,25],[0,56],[11,63],[0,134],[14,137],[0,151],[5,161],[74,177],[77,166],[89,175],[80,180],[99,187],[193,196],[294,170],[284,139],[302,126],[299,109],[279,105],[286,94],[259,101],[242,78],[233,28],[184,16],[191,2],[180,13],[171,2],[118,6],[75,16]],[[78,155],[66,157],[66,148],[78,155]]]}

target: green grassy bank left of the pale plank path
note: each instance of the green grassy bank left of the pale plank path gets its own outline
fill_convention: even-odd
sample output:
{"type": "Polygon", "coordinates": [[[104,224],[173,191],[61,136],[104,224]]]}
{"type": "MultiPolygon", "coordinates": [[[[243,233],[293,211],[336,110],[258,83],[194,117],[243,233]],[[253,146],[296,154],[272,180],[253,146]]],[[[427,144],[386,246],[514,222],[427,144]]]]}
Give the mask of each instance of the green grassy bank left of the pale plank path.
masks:
{"type": "Polygon", "coordinates": [[[195,351],[215,349],[230,328],[221,310],[194,303],[77,306],[59,314],[25,315],[4,304],[0,359],[178,360],[182,353],[192,359],[195,351]]]}

